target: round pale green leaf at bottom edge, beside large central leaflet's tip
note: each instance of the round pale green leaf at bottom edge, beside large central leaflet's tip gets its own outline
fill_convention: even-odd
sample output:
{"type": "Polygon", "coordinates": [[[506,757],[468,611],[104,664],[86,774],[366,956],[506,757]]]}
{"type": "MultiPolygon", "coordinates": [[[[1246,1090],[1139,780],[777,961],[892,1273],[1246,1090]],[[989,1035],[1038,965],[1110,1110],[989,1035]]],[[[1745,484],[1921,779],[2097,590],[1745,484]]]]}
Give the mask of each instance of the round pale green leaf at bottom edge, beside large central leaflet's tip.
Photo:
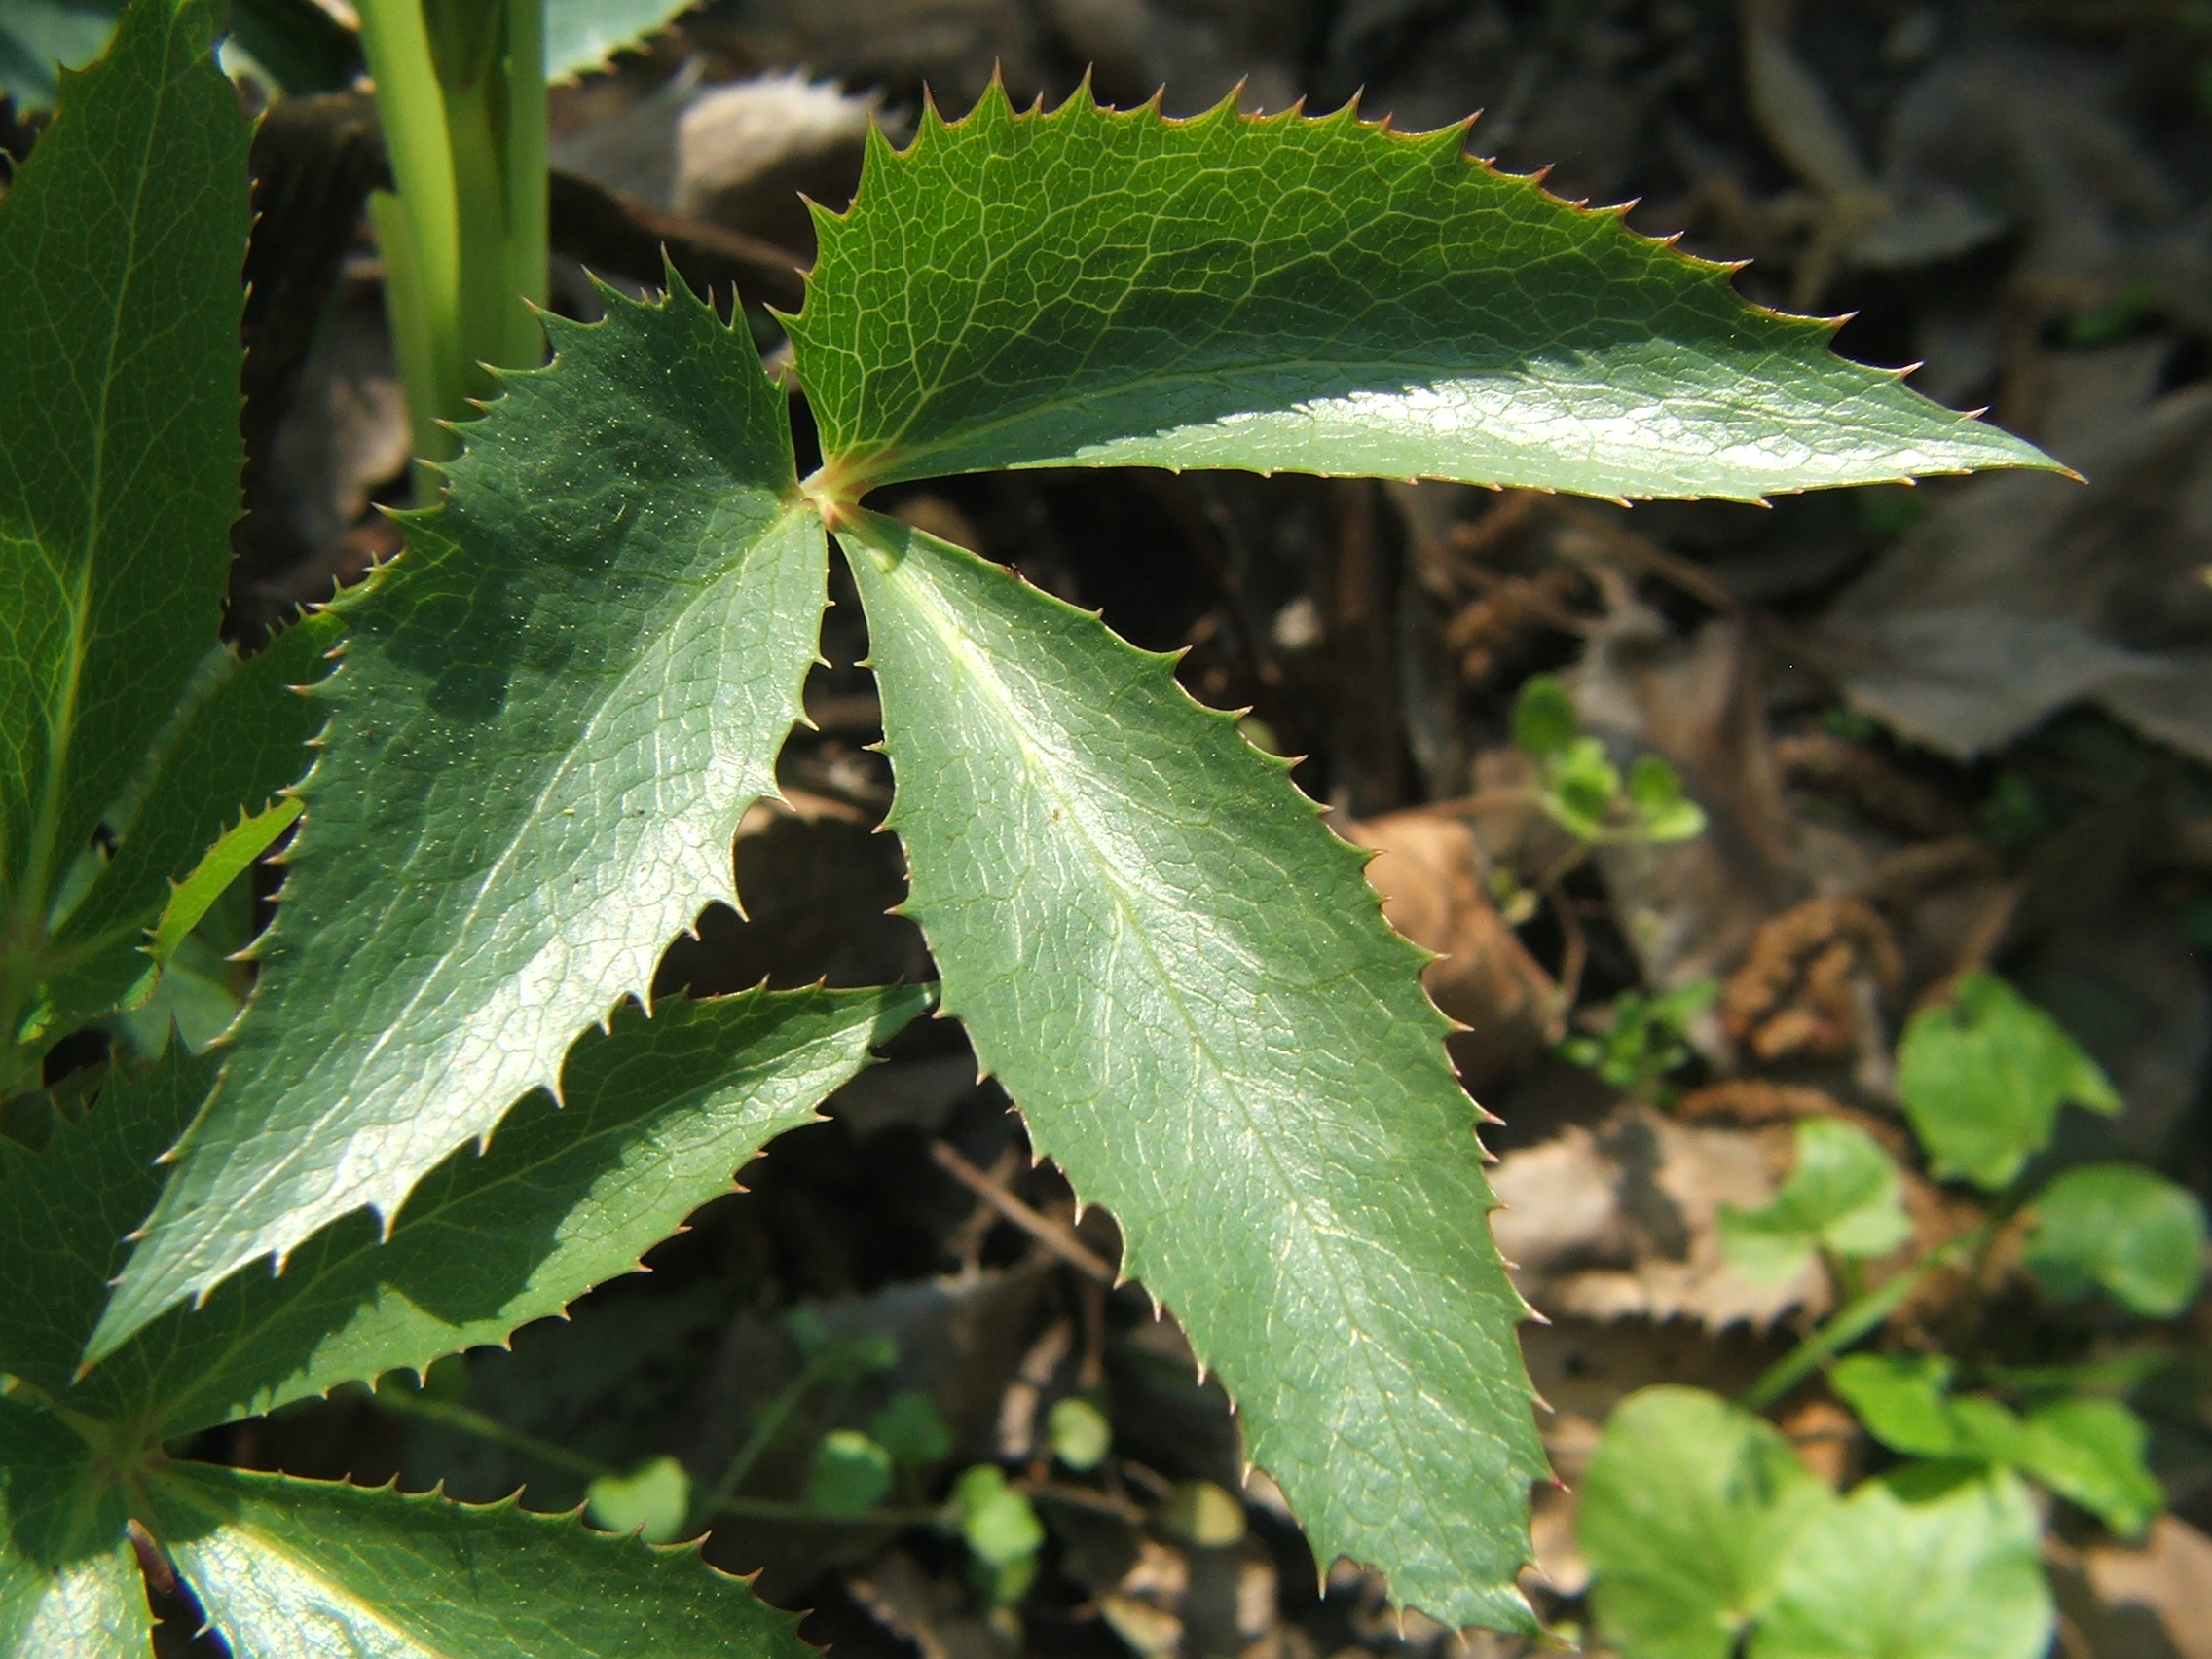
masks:
{"type": "Polygon", "coordinates": [[[1597,1628],[1628,1659],[1730,1659],[1834,1506],[1750,1411],[1699,1389],[1628,1396],[1582,1484],[1597,1628]]]}

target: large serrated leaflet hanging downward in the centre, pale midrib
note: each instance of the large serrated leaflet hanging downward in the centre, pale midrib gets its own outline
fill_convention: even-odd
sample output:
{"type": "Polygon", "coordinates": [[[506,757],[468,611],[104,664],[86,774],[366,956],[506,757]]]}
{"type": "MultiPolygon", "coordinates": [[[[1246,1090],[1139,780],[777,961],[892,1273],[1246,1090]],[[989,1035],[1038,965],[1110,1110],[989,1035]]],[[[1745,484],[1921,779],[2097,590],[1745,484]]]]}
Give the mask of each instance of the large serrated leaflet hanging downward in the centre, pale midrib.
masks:
{"type": "Polygon", "coordinates": [[[891,520],[845,546],[947,1011],[1113,1210],[1321,1559],[1526,1626],[1524,1305],[1360,854],[1170,659],[891,520]]]}

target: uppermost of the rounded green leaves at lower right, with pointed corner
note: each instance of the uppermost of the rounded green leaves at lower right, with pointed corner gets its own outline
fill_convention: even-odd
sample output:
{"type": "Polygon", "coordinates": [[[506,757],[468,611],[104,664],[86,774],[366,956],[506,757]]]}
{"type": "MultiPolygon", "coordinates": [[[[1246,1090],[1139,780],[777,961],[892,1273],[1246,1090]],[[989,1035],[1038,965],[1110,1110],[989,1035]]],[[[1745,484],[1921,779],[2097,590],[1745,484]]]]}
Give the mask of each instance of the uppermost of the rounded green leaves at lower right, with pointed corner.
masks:
{"type": "Polygon", "coordinates": [[[2059,1104],[2117,1113],[2104,1068],[1995,973],[1969,973],[1898,1046],[1898,1097],[1938,1177],[2006,1186],[2051,1141],[2059,1104]]]}

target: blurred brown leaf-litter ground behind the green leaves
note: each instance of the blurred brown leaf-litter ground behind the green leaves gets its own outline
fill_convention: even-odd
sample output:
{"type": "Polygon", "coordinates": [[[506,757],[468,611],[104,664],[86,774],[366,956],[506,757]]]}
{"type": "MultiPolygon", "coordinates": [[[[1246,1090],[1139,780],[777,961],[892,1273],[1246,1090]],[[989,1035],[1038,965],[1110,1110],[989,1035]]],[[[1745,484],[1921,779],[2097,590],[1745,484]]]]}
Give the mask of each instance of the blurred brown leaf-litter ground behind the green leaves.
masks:
{"type": "MultiPolygon", "coordinates": [[[[1927,396],[1986,407],[2088,480],[1624,509],[1044,471],[880,500],[1102,606],[1139,646],[1188,648],[1192,695],[1305,757],[1296,779],[1332,823],[1385,849],[1391,920],[1449,951],[1431,993],[1469,1026],[1453,1055],[1502,1119],[1484,1130],[1511,1206],[1498,1237],[1548,1316],[1524,1343],[1566,1486],[1537,1493],[1526,1582],[1562,1637],[1601,1650],[1575,1486],[1608,1411],[1650,1383],[1741,1391],[1836,1305],[1816,1265],[1772,1283],[1721,1239],[1723,1212],[1783,1190],[1796,1126],[1847,1121],[1905,1161],[1898,1261],[1984,1214],[1922,1175],[1902,1130],[1896,1046],[1927,998],[1997,971],[2112,1079],[2124,1110],[2068,1106],[2037,1170],[2128,1161],[2199,1197],[2212,1181],[2212,7],[710,0],[555,88],[557,307],[595,312],[586,270],[646,292],[666,246],[737,296],[774,361],[765,307],[796,307],[812,259],[799,192],[845,206],[872,119],[902,137],[925,100],[956,117],[993,73],[1018,104],[1088,73],[1106,102],[1157,93],[1177,115],[1356,97],[1427,131],[1482,111],[1473,155],[1752,261],[1747,299],[1845,316],[1836,349],[1920,365],[1927,396]],[[1540,675],[1608,754],[1668,761],[1703,832],[1593,847],[1533,805],[1546,759],[1515,743],[1513,710],[1540,675]]],[[[9,148],[31,139],[11,124],[9,148]]],[[[376,509],[409,489],[361,223],[374,108],[279,100],[254,155],[230,608],[248,641],[398,551],[376,509]]],[[[931,975],[885,914],[902,863],[872,830],[891,779],[869,750],[858,608],[841,571],[834,586],[790,805],[757,810],[734,849],[752,916],[710,911],[661,991],[931,975]]],[[[188,1037],[243,991],[221,947],[257,922],[217,922],[237,938],[210,933],[148,1013],[188,1037]]],[[[1400,1619],[1352,1564],[1316,1577],[1272,1484],[1243,1480],[1228,1400],[1172,1316],[1110,1287],[1113,1219],[1077,1221],[1053,1166],[1031,1166],[956,1024],[905,1033],[741,1183],[650,1274],[513,1352],[201,1451],[471,1500],[526,1486],[533,1509],[591,1493],[613,1524],[741,1462],[734,1491],[821,1513],[737,1515],[710,1559],[765,1566],[759,1588],[812,1608],[805,1635],[841,1659],[1531,1650],[1400,1619]],[[973,1489],[967,1533],[931,1524],[975,1467],[1024,1504],[973,1489]]],[[[2126,1540],[2051,1500],[2057,1641],[2212,1655],[2201,1301],[2154,1327],[2053,1301],[2000,1232],[1973,1272],[1927,1276],[1880,1340],[2126,1360],[2115,1389],[2150,1427],[2166,1513],[2126,1540]]],[[[1774,1416],[1834,1486],[1889,1458],[1818,1380],[1774,1416]]]]}

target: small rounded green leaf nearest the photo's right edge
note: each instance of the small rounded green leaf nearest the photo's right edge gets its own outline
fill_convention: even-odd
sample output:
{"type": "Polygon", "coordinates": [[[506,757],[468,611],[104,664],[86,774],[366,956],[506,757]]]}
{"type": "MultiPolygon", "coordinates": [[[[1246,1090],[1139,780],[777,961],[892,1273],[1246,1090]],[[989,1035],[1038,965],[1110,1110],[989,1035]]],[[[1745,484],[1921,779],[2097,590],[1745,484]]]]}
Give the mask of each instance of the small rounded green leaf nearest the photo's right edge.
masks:
{"type": "Polygon", "coordinates": [[[2197,1197],[2135,1164],[2066,1170],[2028,1206],[2026,1267],[2053,1296],[2104,1287],[2146,1318],[2172,1318],[2205,1276],[2197,1197]]]}

